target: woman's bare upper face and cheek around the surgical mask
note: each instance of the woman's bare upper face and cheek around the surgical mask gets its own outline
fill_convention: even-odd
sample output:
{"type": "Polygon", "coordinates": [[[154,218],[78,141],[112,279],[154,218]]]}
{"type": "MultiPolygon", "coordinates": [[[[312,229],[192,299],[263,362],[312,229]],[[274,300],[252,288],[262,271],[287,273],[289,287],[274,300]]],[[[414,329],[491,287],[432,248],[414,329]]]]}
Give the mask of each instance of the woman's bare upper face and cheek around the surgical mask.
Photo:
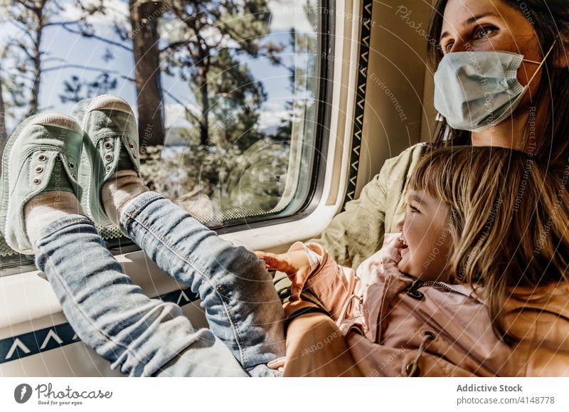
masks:
{"type": "MultiPolygon", "coordinates": [[[[508,51],[522,54],[528,60],[541,61],[551,44],[540,46],[531,14],[523,9],[524,4],[522,1],[513,7],[500,0],[449,0],[441,30],[442,52],[508,51]]],[[[527,85],[536,70],[537,64],[523,62],[518,70],[521,85],[527,85]]],[[[523,97],[521,107],[531,101],[540,78],[541,73],[538,73],[523,97]]]]}

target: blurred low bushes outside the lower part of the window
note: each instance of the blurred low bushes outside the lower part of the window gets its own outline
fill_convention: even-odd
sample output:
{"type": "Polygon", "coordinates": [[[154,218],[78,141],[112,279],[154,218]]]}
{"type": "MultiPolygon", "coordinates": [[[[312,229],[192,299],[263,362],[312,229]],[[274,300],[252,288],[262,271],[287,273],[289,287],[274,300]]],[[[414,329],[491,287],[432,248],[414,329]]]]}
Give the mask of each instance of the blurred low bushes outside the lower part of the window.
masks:
{"type": "MultiPolygon", "coordinates": [[[[212,221],[262,214],[277,206],[285,187],[287,143],[259,141],[245,152],[236,147],[208,150],[200,144],[147,147],[141,174],[151,190],[179,202],[205,196],[215,211],[212,221]]],[[[191,211],[191,210],[190,210],[191,211]]]]}

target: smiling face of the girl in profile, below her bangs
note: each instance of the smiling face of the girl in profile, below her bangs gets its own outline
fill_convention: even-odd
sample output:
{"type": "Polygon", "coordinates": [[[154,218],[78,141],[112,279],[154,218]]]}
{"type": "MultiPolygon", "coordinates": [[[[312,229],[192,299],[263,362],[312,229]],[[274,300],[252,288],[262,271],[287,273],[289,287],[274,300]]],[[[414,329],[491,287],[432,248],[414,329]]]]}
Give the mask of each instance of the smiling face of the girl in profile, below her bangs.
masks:
{"type": "Polygon", "coordinates": [[[445,265],[450,258],[451,236],[447,228],[449,206],[425,191],[411,190],[406,196],[407,213],[397,223],[401,231],[398,268],[421,280],[449,279],[445,265]]]}

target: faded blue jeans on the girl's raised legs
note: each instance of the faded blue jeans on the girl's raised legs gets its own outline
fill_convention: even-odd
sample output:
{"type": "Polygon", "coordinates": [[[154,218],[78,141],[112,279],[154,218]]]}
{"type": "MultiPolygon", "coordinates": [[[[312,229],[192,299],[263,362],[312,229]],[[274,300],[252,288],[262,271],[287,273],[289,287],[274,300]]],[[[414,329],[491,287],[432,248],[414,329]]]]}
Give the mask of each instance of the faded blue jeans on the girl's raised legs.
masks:
{"type": "Polygon", "coordinates": [[[147,192],[120,217],[122,232],[201,297],[209,329],[150,299],[122,273],[92,221],[60,218],[34,245],[78,337],[129,376],[277,376],[284,312],[265,263],[219,238],[171,201],[147,192]]]}

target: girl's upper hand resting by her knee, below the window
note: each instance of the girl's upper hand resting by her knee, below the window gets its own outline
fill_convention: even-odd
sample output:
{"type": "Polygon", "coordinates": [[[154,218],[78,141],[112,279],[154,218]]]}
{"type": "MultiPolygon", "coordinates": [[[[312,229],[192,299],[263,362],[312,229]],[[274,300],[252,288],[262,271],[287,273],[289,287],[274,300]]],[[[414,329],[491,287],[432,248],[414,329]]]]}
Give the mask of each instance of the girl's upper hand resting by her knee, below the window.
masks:
{"type": "Polygon", "coordinates": [[[300,292],[307,282],[310,273],[310,261],[308,255],[304,250],[295,250],[294,252],[282,253],[275,255],[275,253],[267,252],[253,252],[257,258],[265,260],[267,269],[279,270],[284,272],[292,282],[291,299],[300,300],[300,292]]]}

